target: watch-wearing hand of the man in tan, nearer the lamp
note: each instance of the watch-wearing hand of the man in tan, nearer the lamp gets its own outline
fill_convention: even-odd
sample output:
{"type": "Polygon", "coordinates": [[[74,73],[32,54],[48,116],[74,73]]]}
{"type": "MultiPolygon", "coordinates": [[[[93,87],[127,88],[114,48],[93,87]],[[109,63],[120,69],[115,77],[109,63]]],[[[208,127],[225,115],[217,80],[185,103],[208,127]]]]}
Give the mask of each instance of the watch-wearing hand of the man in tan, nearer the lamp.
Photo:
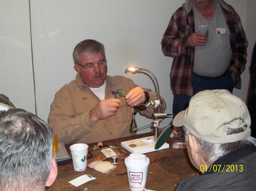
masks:
{"type": "Polygon", "coordinates": [[[126,103],[131,107],[134,107],[138,104],[144,103],[145,101],[145,93],[142,87],[133,88],[126,96],[126,103]]]}

